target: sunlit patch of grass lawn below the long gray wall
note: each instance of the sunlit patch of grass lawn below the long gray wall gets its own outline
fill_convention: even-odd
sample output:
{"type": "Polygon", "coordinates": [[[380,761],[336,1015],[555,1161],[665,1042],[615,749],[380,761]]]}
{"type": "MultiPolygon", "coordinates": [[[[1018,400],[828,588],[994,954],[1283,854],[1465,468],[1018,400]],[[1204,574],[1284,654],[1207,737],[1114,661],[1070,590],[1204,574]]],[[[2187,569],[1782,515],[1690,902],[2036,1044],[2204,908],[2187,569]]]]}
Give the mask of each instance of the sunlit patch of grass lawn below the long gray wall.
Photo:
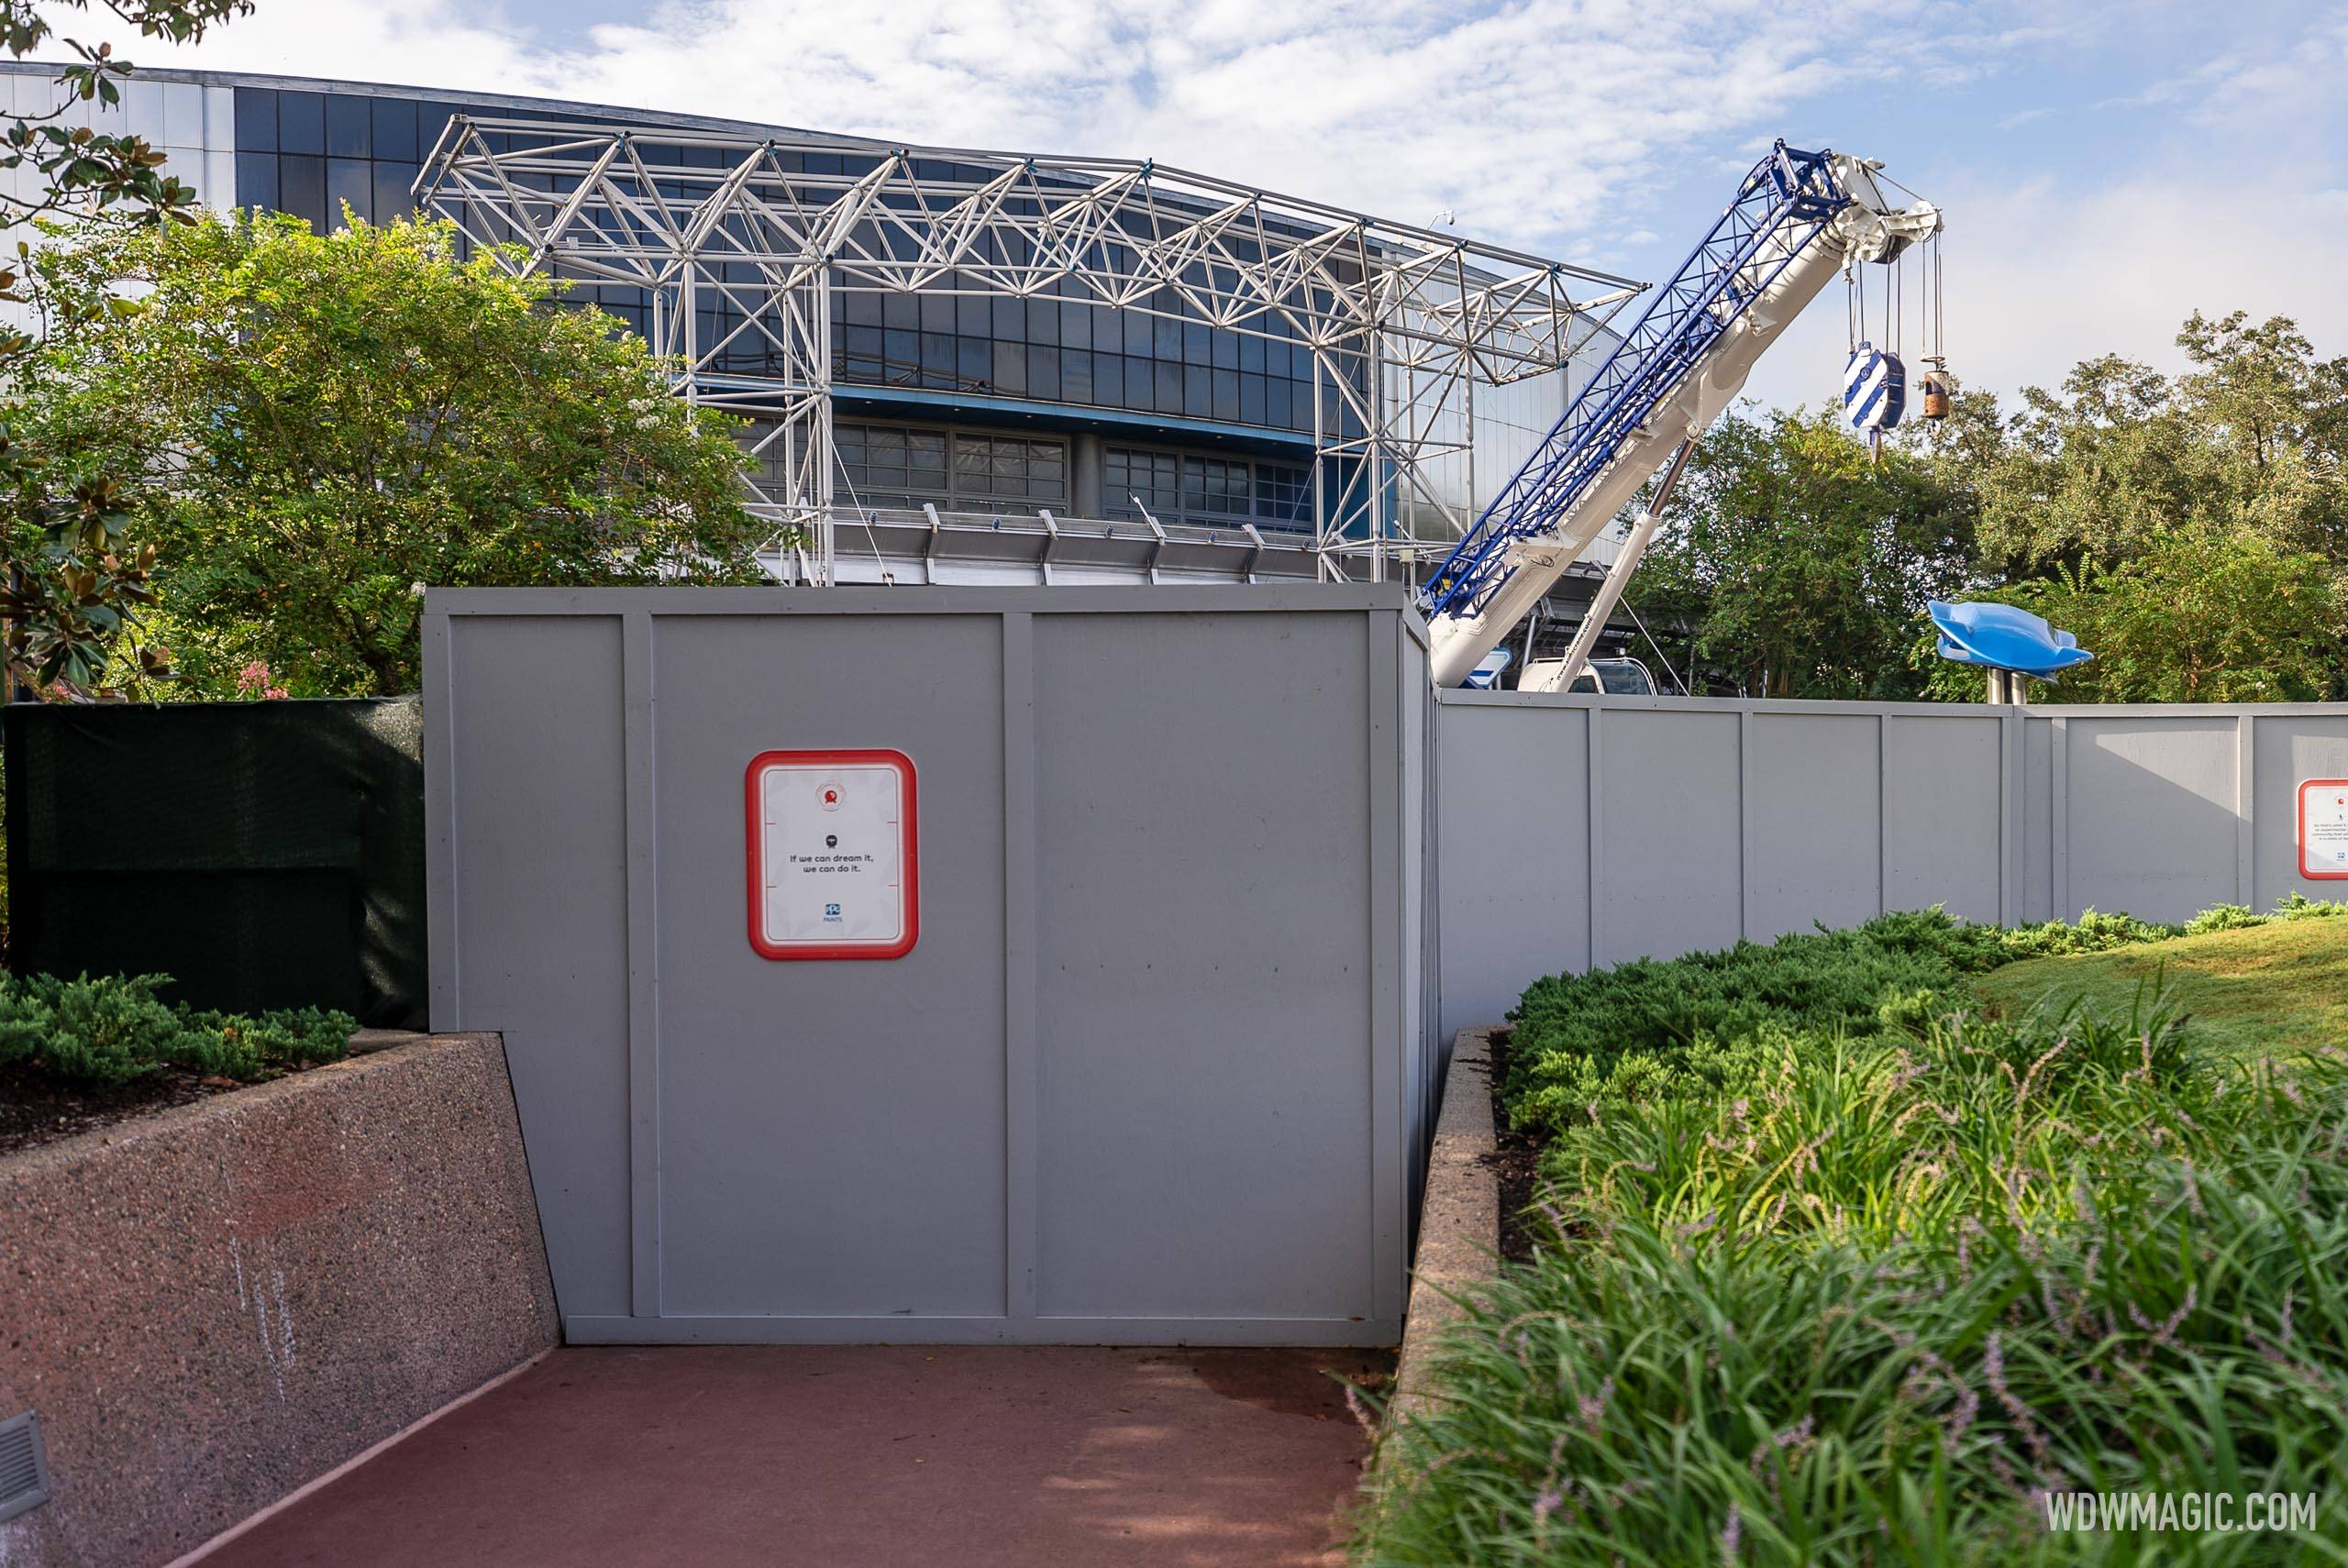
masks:
{"type": "Polygon", "coordinates": [[[2033,958],[1972,981],[1991,1014],[2085,998],[2127,1014],[2144,988],[2167,986],[2195,1033],[2231,1052],[2299,1054],[2348,1045],[2348,920],[2282,920],[2179,937],[2109,953],[2033,958]]]}

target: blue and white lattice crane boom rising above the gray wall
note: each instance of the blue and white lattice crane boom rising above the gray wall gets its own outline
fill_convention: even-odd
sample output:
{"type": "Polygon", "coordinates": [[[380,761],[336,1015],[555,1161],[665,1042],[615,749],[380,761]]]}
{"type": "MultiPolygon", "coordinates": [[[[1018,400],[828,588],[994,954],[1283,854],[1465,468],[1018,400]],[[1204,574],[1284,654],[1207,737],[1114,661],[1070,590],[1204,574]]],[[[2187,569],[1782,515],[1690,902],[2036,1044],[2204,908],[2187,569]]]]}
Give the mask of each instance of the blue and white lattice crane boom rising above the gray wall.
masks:
{"type": "MultiPolygon", "coordinates": [[[[1939,230],[1930,202],[1888,204],[1881,167],[1782,141],[1754,164],[1712,232],[1421,589],[1435,685],[1468,678],[1662,460],[1712,425],[1829,277],[1857,261],[1892,261],[1939,230]]],[[[1613,594],[1637,556],[1618,556],[1613,594]]],[[[1576,662],[1554,671],[1559,685],[1576,662]]]]}

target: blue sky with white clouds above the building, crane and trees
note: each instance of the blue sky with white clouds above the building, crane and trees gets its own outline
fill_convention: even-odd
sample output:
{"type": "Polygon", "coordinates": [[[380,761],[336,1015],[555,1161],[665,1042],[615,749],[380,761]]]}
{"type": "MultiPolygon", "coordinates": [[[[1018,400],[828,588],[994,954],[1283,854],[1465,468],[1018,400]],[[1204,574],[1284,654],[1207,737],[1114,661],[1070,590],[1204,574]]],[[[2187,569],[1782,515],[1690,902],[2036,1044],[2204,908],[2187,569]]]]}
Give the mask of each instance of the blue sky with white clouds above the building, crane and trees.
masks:
{"type": "MultiPolygon", "coordinates": [[[[2174,366],[2193,307],[2348,352],[2348,5],[261,0],[185,61],[1151,155],[1634,277],[1787,136],[1949,211],[1972,385],[2174,366]]],[[[1829,296],[1752,390],[1822,399],[1841,357],[1829,296]]]]}

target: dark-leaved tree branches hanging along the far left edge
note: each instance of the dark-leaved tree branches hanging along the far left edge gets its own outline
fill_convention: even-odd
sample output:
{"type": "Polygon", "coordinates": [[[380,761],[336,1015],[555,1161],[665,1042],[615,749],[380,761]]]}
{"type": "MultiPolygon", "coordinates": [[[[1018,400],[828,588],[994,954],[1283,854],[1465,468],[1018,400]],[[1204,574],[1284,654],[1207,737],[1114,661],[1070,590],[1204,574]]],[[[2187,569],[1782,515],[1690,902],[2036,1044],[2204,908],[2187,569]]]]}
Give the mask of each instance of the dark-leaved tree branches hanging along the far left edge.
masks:
{"type": "MultiPolygon", "coordinates": [[[[106,9],[143,38],[200,40],[214,23],[249,14],[251,0],[103,0],[106,9]]],[[[23,59],[56,33],[52,16],[87,12],[89,0],[0,0],[0,49],[23,59]]],[[[115,106],[129,61],[108,42],[61,40],[75,61],[56,85],[66,103],[115,106]]],[[[164,157],[146,138],[61,124],[66,106],[42,115],[0,115],[0,169],[31,169],[31,192],[0,192],[0,225],[45,218],[153,225],[185,218],[195,192],[162,171],[164,157]]],[[[0,265],[0,300],[23,305],[31,244],[19,239],[14,265],[0,265]]],[[[113,300],[85,296],[82,307],[113,300]]],[[[56,303],[49,305],[56,310],[56,303]]],[[[0,383],[21,392],[35,338],[0,326],[0,383]]],[[[129,512],[115,474],[92,453],[33,439],[14,399],[0,399],[0,636],[9,683],[80,690],[99,681],[108,657],[160,671],[155,646],[136,648],[141,606],[150,603],[153,545],[124,538],[129,512]]]]}

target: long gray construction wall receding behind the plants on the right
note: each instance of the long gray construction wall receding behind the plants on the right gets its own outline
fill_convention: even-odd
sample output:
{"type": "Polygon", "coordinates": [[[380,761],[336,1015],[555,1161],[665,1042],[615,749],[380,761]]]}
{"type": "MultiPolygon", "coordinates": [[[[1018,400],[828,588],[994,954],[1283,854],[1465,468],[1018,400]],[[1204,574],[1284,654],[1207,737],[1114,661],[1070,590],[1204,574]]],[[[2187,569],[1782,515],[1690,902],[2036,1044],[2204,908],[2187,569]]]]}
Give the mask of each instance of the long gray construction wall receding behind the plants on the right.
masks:
{"type": "Polygon", "coordinates": [[[1951,707],[1442,692],[1449,1030],[1559,969],[1944,904],[2184,920],[2303,880],[2294,791],[2348,707],[1951,707]]]}

